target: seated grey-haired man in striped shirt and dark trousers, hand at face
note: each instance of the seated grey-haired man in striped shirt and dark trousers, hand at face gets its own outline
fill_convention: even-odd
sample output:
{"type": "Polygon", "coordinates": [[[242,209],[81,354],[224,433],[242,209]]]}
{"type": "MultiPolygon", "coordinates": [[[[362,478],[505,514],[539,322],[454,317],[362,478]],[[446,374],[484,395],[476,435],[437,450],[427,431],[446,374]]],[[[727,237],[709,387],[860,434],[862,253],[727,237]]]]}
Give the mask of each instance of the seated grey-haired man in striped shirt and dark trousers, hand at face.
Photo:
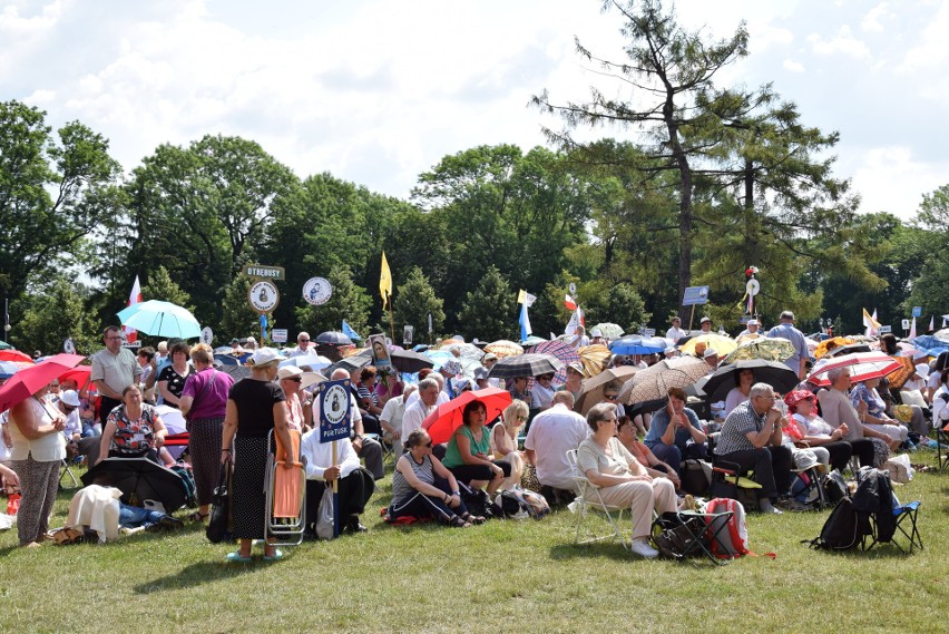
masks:
{"type": "Polygon", "coordinates": [[[752,386],[749,400],[737,406],[722,425],[715,455],[754,470],[759,506],[763,513],[780,514],[772,505],[791,486],[791,450],[781,445],[782,428],[787,425],[774,407],[777,396],[767,383],[752,386]]]}

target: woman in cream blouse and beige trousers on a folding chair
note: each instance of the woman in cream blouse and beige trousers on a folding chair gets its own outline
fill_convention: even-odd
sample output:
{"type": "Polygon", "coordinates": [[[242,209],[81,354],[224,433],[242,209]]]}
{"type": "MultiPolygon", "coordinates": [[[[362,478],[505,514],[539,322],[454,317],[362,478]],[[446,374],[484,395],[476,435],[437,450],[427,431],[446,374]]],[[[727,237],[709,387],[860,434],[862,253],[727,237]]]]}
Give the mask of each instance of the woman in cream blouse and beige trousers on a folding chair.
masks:
{"type": "Polygon", "coordinates": [[[629,507],[633,517],[632,550],[646,558],[658,556],[649,546],[653,510],[659,515],[676,510],[675,487],[666,478],[653,478],[616,438],[616,408],[595,404],[587,412],[593,435],[577,449],[577,466],[587,479],[599,487],[603,501],[615,507],[629,507]]]}

